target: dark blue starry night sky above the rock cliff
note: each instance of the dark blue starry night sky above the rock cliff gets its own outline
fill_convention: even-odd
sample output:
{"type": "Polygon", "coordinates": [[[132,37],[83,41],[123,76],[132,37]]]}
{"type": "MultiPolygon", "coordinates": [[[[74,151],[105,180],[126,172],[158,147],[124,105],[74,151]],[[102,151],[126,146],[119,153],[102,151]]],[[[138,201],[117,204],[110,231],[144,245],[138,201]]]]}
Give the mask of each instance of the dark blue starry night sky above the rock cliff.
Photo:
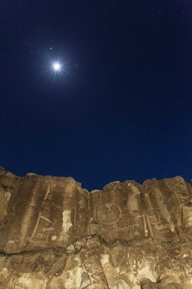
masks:
{"type": "Polygon", "coordinates": [[[192,179],[191,0],[0,8],[5,170],[71,176],[88,191],[192,179]]]}

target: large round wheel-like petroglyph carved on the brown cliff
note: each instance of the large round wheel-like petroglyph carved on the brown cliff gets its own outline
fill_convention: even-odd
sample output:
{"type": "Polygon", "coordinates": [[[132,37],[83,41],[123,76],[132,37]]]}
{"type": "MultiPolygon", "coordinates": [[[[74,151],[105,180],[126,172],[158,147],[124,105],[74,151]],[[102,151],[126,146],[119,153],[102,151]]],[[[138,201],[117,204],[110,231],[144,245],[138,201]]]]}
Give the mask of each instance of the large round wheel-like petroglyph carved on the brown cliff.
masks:
{"type": "Polygon", "coordinates": [[[98,219],[101,223],[106,225],[115,224],[122,217],[121,208],[117,204],[104,204],[100,206],[98,212],[98,219]]]}

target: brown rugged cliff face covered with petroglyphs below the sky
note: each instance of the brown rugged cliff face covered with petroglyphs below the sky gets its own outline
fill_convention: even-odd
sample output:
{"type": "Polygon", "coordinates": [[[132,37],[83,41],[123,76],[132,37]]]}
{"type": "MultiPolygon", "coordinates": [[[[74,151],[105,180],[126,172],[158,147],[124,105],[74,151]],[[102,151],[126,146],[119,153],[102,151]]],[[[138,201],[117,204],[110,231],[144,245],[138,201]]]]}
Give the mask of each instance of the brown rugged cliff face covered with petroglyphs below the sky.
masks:
{"type": "Polygon", "coordinates": [[[192,185],[112,182],[0,168],[0,288],[192,288],[192,185]]]}

